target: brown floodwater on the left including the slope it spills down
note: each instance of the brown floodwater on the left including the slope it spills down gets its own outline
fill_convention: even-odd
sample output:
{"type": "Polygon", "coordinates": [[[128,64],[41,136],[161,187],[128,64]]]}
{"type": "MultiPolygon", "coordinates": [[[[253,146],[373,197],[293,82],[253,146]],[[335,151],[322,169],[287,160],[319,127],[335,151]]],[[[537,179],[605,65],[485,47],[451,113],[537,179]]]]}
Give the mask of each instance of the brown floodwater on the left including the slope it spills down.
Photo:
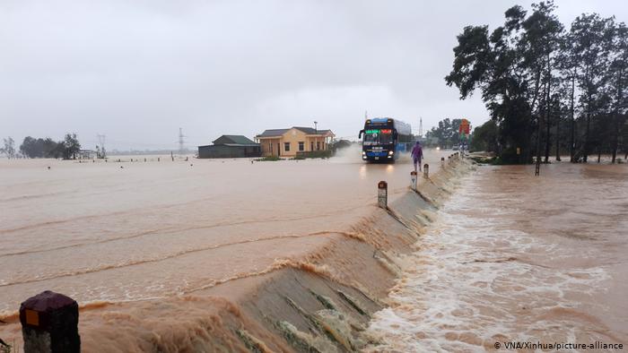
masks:
{"type": "Polygon", "coordinates": [[[20,345],[14,310],[52,289],[85,351],[360,349],[449,194],[446,153],[426,151],[423,197],[403,160],[4,161],[0,337],[20,345]]]}

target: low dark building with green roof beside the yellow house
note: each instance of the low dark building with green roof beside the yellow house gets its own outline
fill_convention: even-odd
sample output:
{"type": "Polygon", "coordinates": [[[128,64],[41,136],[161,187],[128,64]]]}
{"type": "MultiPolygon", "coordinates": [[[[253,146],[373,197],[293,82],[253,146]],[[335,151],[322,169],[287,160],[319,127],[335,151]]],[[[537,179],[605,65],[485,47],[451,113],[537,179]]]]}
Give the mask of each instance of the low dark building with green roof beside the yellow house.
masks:
{"type": "Polygon", "coordinates": [[[211,145],[198,146],[198,158],[243,158],[259,157],[259,143],[246,136],[223,134],[211,145]]]}

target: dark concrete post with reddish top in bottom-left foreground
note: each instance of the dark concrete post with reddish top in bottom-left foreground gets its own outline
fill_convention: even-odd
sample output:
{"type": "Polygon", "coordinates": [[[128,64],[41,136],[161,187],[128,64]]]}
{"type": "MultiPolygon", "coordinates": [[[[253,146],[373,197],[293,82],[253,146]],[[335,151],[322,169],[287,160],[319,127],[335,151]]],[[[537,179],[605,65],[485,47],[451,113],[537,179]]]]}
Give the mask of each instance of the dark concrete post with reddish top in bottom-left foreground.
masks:
{"type": "Polygon", "coordinates": [[[50,290],[26,299],[20,306],[24,352],[78,353],[78,304],[50,290]]]}

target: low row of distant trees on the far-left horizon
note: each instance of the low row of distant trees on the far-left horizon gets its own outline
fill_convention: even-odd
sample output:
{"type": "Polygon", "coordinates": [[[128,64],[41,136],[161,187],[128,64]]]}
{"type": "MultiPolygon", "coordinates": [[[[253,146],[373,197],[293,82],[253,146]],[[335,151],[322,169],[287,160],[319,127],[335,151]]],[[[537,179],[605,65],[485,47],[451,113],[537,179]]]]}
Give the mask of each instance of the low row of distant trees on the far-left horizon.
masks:
{"type": "MultiPolygon", "coordinates": [[[[26,158],[63,158],[76,159],[76,154],[81,150],[81,143],[76,133],[66,133],[63,141],[55,142],[49,137],[36,139],[31,136],[24,138],[20,145],[20,153],[26,158]]],[[[4,147],[0,148],[9,159],[18,157],[15,151],[13,138],[4,139],[4,147]]]]}

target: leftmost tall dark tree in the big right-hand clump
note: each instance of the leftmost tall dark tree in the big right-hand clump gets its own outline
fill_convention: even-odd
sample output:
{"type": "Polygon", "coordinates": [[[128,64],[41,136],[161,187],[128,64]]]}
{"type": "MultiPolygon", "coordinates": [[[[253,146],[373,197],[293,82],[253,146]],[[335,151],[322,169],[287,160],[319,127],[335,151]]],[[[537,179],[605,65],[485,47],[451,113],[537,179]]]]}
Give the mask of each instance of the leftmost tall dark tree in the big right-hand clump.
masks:
{"type": "Polygon", "coordinates": [[[454,48],[453,70],[445,77],[458,88],[460,99],[482,92],[500,128],[498,153],[507,163],[531,160],[534,131],[540,151],[540,127],[544,117],[549,120],[553,61],[563,31],[554,9],[553,2],[534,4],[528,16],[513,6],[503,26],[490,35],[487,26],[466,27],[454,48]]]}

